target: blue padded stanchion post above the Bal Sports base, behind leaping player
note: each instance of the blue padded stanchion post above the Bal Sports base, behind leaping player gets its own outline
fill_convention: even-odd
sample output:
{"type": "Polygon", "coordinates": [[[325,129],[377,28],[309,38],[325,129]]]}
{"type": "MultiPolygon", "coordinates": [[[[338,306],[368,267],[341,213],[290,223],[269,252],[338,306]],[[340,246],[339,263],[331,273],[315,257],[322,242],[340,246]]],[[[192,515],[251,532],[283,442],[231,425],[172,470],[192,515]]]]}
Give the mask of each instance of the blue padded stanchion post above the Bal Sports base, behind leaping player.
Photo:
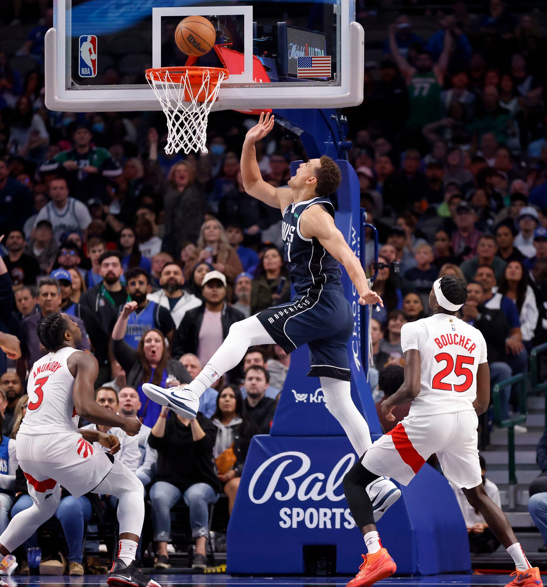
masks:
{"type": "MultiPolygon", "coordinates": [[[[293,161],[291,172],[296,173],[300,161],[293,161]]],[[[351,165],[337,161],[342,183],[335,195],[335,222],[351,249],[360,257],[361,212],[359,208],[359,181],[351,165]]],[[[361,359],[361,312],[359,295],[347,272],[342,268],[345,297],[354,315],[354,330],[348,342],[351,369],[351,397],[355,406],[365,414],[372,433],[380,434],[380,421],[376,413],[361,359]]],[[[294,292],[293,292],[294,294],[294,292]]],[[[336,436],[344,434],[337,420],[325,407],[323,391],[317,377],[306,377],[310,360],[304,346],[291,353],[291,364],[283,386],[283,393],[274,416],[271,434],[274,436],[336,436]]]]}

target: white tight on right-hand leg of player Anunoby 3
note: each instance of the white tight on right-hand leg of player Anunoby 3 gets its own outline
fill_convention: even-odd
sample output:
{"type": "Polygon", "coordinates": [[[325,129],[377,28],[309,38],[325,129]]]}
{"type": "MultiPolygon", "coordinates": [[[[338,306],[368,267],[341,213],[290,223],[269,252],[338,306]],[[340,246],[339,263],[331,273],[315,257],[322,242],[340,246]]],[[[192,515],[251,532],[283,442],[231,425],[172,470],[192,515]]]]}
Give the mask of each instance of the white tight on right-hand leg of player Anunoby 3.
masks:
{"type": "Polygon", "coordinates": [[[116,460],[108,475],[92,491],[115,495],[119,500],[120,534],[130,532],[140,536],[145,519],[145,488],[135,473],[116,460]]]}

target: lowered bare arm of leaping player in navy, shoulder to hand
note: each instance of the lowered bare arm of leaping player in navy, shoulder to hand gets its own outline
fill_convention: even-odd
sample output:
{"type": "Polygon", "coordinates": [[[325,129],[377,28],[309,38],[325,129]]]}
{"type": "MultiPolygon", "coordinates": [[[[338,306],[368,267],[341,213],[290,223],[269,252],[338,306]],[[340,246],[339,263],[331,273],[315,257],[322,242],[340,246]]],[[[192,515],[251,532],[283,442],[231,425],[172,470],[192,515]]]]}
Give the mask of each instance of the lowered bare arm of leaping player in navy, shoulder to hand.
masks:
{"type": "Polygon", "coordinates": [[[359,292],[359,303],[379,303],[382,308],[382,298],[368,287],[367,276],[361,266],[361,262],[355,257],[345,241],[344,235],[336,228],[333,217],[317,204],[307,208],[300,217],[300,232],[303,237],[317,238],[317,240],[330,252],[331,255],[348,272],[351,281],[359,292]]]}

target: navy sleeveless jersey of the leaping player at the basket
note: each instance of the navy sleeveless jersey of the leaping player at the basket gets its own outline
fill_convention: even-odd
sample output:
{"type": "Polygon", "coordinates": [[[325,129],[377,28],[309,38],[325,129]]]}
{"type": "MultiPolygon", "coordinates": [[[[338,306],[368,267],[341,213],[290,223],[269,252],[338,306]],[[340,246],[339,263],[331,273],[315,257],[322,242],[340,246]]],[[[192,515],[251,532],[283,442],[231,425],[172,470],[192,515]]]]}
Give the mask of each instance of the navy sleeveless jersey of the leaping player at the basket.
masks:
{"type": "Polygon", "coordinates": [[[317,197],[289,204],[283,211],[281,236],[285,243],[285,262],[297,294],[307,289],[321,289],[324,284],[342,286],[340,264],[317,238],[304,238],[300,216],[310,206],[320,204],[334,218],[334,206],[328,198],[317,197]]]}

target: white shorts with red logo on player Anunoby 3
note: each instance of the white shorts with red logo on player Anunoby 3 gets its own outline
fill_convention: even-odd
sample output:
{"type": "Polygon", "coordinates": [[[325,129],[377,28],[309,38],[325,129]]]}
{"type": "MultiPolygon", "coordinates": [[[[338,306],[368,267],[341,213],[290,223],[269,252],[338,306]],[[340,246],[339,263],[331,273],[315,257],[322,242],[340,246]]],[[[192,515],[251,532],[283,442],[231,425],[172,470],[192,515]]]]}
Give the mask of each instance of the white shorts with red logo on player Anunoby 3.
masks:
{"type": "Polygon", "coordinates": [[[32,493],[53,489],[55,482],[74,497],[95,489],[112,468],[112,457],[99,444],[83,440],[78,432],[17,434],[19,466],[32,493]]]}

